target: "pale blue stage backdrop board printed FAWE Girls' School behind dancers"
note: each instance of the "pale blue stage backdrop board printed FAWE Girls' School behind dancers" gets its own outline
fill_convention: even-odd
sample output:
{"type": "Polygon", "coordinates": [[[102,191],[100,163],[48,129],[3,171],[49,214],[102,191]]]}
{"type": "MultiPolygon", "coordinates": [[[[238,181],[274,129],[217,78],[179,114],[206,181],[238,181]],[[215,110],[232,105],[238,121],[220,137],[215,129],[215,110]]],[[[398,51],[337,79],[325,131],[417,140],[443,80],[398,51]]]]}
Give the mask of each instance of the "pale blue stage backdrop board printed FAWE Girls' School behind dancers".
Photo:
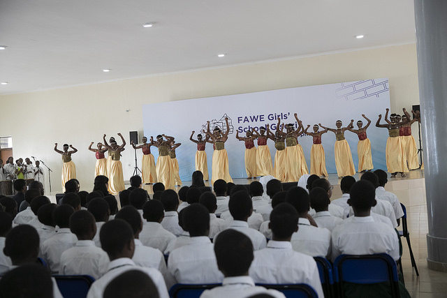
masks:
{"type": "MultiPolygon", "coordinates": [[[[155,139],[156,135],[165,134],[175,137],[175,142],[182,143],[176,150],[179,174],[182,180],[190,181],[195,170],[194,156],[197,150],[196,144],[189,140],[191,131],[196,131],[193,135],[196,139],[197,134],[206,129],[207,121],[211,122],[211,130],[214,126],[225,130],[224,119],[228,117],[230,133],[225,148],[228,151],[230,175],[232,178],[244,178],[247,177],[244,167],[245,147],[244,142],[235,138],[236,131],[239,131],[240,136],[244,136],[247,129],[257,129],[265,124],[269,124],[270,129],[274,130],[277,117],[281,118],[281,123],[293,123],[296,127],[298,124],[293,117],[295,112],[303,126],[311,126],[309,132],[312,132],[312,126],[318,123],[335,128],[337,119],[343,121],[343,126],[347,126],[351,119],[354,119],[354,128],[357,128],[358,120],[362,120],[365,126],[367,121],[362,117],[362,114],[365,114],[372,122],[367,129],[367,136],[372,144],[374,169],[386,170],[385,147],[388,131],[386,128],[376,128],[375,124],[379,114],[382,114],[381,123],[385,123],[387,107],[390,107],[390,90],[388,79],[383,78],[154,103],[143,105],[142,115],[148,140],[150,136],[155,139]]],[[[393,112],[402,114],[402,110],[393,112]]],[[[358,170],[358,137],[350,131],[346,131],[345,137],[358,170]]],[[[302,145],[310,170],[312,137],[302,135],[298,137],[298,142],[302,145]]],[[[335,134],[323,134],[322,144],[328,173],[335,173],[335,134]]],[[[274,161],[274,142],[269,140],[268,146],[274,161]]],[[[212,144],[207,144],[206,152],[208,171],[211,175],[212,144]]],[[[152,147],[152,154],[155,159],[158,157],[155,147],[152,147]]]]}

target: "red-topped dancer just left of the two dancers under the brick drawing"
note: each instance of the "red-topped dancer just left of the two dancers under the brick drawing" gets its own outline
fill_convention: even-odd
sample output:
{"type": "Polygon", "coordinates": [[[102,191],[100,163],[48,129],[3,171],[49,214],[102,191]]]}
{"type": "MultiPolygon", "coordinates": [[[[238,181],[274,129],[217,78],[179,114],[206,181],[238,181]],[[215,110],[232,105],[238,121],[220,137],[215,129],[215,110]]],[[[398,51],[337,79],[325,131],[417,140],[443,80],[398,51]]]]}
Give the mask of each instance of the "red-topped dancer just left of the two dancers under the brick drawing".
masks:
{"type": "Polygon", "coordinates": [[[307,130],[309,129],[309,127],[310,125],[307,126],[304,133],[306,135],[311,135],[314,143],[312,144],[312,149],[310,150],[310,174],[316,174],[319,177],[328,177],[324,149],[323,145],[321,144],[321,135],[323,135],[323,133],[327,133],[328,129],[325,129],[324,131],[318,131],[320,127],[317,124],[314,124],[314,126],[312,127],[314,132],[308,133],[307,130]]]}

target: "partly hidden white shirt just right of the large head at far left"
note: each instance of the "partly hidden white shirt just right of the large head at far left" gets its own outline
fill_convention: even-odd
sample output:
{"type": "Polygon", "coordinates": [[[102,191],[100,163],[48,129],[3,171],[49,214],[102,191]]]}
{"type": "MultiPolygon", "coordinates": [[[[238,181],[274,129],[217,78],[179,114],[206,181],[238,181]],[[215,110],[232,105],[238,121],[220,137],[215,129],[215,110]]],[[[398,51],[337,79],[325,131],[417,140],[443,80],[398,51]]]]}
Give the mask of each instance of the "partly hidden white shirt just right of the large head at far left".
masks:
{"type": "Polygon", "coordinates": [[[59,229],[53,237],[43,242],[41,246],[42,257],[47,261],[52,274],[59,272],[62,253],[75,246],[76,242],[78,242],[78,237],[68,228],[59,229]]]}

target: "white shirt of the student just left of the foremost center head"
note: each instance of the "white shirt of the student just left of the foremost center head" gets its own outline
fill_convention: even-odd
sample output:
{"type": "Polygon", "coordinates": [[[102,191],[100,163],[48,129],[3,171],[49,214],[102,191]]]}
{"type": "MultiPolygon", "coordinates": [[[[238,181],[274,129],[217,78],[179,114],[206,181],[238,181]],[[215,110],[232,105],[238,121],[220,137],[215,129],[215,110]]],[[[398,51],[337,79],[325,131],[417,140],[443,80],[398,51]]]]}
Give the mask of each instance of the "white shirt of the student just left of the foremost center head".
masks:
{"type": "Polygon", "coordinates": [[[221,283],[223,280],[214,245],[206,236],[191,237],[189,244],[173,250],[168,258],[168,271],[175,283],[221,283]]]}

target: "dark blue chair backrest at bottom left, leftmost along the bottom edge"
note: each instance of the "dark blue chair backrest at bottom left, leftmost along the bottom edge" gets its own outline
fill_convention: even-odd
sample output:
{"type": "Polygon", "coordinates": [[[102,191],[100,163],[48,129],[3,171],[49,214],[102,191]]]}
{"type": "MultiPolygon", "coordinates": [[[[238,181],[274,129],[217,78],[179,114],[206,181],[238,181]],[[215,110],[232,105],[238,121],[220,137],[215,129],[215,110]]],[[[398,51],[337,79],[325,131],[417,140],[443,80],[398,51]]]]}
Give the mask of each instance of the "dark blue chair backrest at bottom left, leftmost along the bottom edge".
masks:
{"type": "Polygon", "coordinates": [[[85,298],[95,279],[89,275],[53,275],[64,298],[85,298]]]}

